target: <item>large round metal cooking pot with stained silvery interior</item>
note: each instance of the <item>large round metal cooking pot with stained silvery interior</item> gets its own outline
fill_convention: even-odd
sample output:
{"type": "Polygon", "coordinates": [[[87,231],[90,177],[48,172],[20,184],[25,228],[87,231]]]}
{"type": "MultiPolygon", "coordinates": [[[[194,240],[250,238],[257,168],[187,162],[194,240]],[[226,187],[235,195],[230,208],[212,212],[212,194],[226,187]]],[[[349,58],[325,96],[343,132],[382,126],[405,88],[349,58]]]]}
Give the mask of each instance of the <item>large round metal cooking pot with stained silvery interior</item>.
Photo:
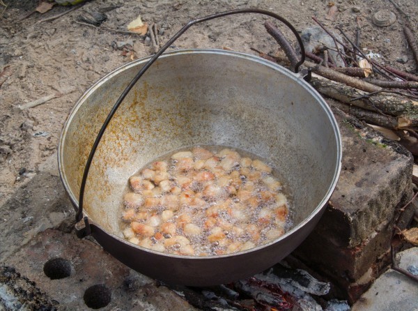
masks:
{"type": "Polygon", "coordinates": [[[100,79],[65,123],[59,171],[75,207],[84,202],[80,236],[91,234],[123,264],[167,283],[219,285],[269,268],[314,229],[335,188],[341,137],[330,108],[302,76],[256,56],[176,50],[157,57],[137,84],[132,79],[150,57],[100,79]],[[249,151],[277,169],[291,192],[293,227],[266,245],[208,257],[167,255],[126,241],[120,215],[128,178],[160,155],[208,144],[249,151]]]}

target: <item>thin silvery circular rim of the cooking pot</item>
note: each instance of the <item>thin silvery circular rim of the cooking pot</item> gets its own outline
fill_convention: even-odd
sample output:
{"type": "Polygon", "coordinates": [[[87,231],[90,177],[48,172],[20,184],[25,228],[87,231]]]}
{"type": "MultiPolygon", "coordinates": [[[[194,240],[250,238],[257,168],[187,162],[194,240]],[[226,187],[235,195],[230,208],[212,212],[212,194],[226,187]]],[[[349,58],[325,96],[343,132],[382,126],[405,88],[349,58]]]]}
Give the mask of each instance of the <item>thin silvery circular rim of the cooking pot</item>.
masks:
{"type": "MultiPolygon", "coordinates": [[[[339,130],[339,126],[336,123],[336,119],[334,117],[334,114],[332,113],[330,107],[327,105],[327,103],[325,102],[325,100],[323,99],[322,96],[320,96],[320,94],[318,93],[318,91],[316,91],[316,89],[314,89],[309,83],[307,83],[306,81],[304,81],[302,74],[300,73],[293,73],[291,72],[291,70],[288,70],[287,68],[284,68],[283,66],[280,66],[277,63],[273,63],[272,61],[268,61],[267,59],[263,59],[260,56],[256,56],[256,55],[252,55],[252,54],[247,54],[247,53],[243,53],[243,52],[235,52],[235,51],[229,51],[229,50],[220,50],[220,49],[185,49],[185,50],[174,50],[174,51],[170,51],[170,52],[164,52],[159,59],[164,59],[166,57],[172,57],[172,56],[177,56],[177,55],[183,55],[183,54],[218,54],[218,55],[227,55],[227,56],[233,56],[233,57],[237,57],[240,59],[246,59],[249,61],[255,61],[256,63],[260,63],[263,66],[268,66],[274,70],[277,70],[279,73],[286,75],[286,77],[289,77],[291,79],[293,79],[295,82],[297,82],[297,84],[299,84],[301,87],[303,87],[304,89],[306,89],[307,91],[309,91],[309,93],[311,94],[311,96],[313,96],[318,103],[320,103],[320,105],[323,107],[325,113],[327,114],[332,128],[334,130],[334,133],[336,134],[336,169],[334,172],[334,176],[332,177],[332,183],[330,183],[330,186],[327,190],[326,195],[323,197],[323,199],[318,203],[318,205],[316,206],[316,208],[314,208],[314,210],[309,214],[309,216],[307,218],[304,218],[304,220],[302,220],[302,222],[298,223],[295,227],[292,227],[288,232],[286,232],[284,235],[280,236],[279,238],[276,238],[272,241],[270,241],[269,243],[265,243],[263,245],[258,245],[255,248],[251,248],[249,250],[243,250],[240,252],[234,252],[231,254],[226,254],[226,255],[216,255],[216,256],[185,256],[185,255],[172,255],[172,254],[167,254],[164,252],[157,252],[155,250],[150,250],[148,248],[143,248],[139,245],[135,245],[133,243],[129,243],[128,241],[126,241],[124,238],[121,238],[120,236],[117,236],[116,234],[114,234],[113,232],[109,232],[107,229],[104,229],[103,227],[101,227],[100,225],[98,225],[97,222],[95,222],[94,220],[92,220],[91,218],[88,219],[88,221],[90,222],[91,225],[94,225],[98,228],[100,228],[103,232],[105,232],[106,234],[109,234],[109,236],[112,236],[113,238],[116,238],[118,241],[128,244],[134,248],[138,248],[139,250],[145,250],[146,252],[151,252],[155,255],[162,255],[162,256],[167,256],[167,257],[175,257],[175,258],[179,258],[179,259],[200,259],[200,260],[204,260],[204,259],[212,259],[214,257],[216,258],[221,258],[221,257],[234,257],[234,256],[238,256],[238,255],[242,255],[242,254],[246,254],[248,252],[253,252],[256,250],[261,250],[263,248],[268,248],[270,245],[278,243],[279,241],[284,240],[285,238],[288,238],[289,236],[291,236],[294,232],[296,232],[297,230],[301,229],[302,227],[304,227],[304,225],[307,224],[307,222],[310,222],[312,218],[314,218],[318,213],[320,213],[323,208],[325,208],[328,200],[330,199],[332,192],[334,192],[334,189],[336,187],[336,183],[338,182],[339,179],[339,175],[341,173],[341,159],[342,159],[342,142],[341,142],[341,132],[339,130]]],[[[106,82],[108,79],[111,79],[111,77],[115,77],[116,75],[118,75],[119,73],[122,73],[124,70],[127,70],[128,68],[132,68],[134,66],[137,66],[139,64],[144,64],[146,62],[148,62],[150,60],[151,56],[145,56],[141,59],[137,59],[135,61],[132,61],[130,63],[126,63],[118,68],[116,68],[115,70],[112,70],[110,73],[108,73],[107,75],[104,75],[104,77],[98,79],[98,81],[96,81],[92,86],[90,86],[84,93],[82,96],[80,96],[80,98],[77,100],[77,102],[75,103],[74,107],[72,107],[70,114],[68,114],[67,119],[65,120],[64,126],[63,126],[63,130],[61,131],[61,136],[59,139],[59,144],[58,144],[58,167],[59,167],[59,175],[61,178],[61,181],[64,185],[65,191],[68,193],[70,200],[72,202],[72,204],[75,207],[79,207],[78,204],[78,199],[77,197],[75,197],[74,193],[72,192],[71,188],[70,188],[70,184],[67,181],[67,178],[65,176],[65,170],[64,170],[64,166],[63,166],[63,145],[64,145],[64,141],[65,141],[65,137],[68,131],[68,128],[70,126],[70,123],[72,121],[73,116],[77,113],[79,107],[82,106],[82,104],[84,103],[84,101],[94,92],[96,91],[96,89],[98,89],[104,82],[106,82]]],[[[88,217],[88,213],[86,213],[86,211],[83,211],[84,216],[88,217]]]]}

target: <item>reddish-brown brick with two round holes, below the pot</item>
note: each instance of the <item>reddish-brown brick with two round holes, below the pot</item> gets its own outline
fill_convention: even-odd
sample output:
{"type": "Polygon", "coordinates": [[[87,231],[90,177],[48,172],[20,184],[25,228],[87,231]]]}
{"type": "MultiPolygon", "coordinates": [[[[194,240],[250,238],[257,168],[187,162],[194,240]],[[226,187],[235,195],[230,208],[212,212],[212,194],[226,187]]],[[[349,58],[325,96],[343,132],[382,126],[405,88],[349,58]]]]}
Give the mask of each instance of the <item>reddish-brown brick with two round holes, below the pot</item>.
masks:
{"type": "Polygon", "coordinates": [[[86,289],[104,285],[111,301],[100,310],[196,310],[167,287],[132,271],[104,252],[100,245],[75,234],[47,229],[38,234],[5,264],[36,283],[49,300],[57,301],[58,310],[88,310],[84,303],[86,289]],[[50,259],[61,258],[70,264],[70,276],[52,280],[44,266],[50,259]]]}

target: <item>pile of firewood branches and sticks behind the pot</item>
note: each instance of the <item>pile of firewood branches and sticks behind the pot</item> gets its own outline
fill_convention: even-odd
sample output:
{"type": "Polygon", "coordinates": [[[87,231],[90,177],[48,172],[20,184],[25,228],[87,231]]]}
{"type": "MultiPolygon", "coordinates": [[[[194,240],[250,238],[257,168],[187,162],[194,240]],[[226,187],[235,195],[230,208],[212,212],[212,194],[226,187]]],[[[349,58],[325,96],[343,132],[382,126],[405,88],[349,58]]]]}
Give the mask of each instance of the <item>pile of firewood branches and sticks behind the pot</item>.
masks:
{"type": "MultiPolygon", "coordinates": [[[[332,105],[398,141],[417,159],[418,76],[381,64],[371,55],[364,54],[359,48],[360,29],[352,40],[341,27],[336,27],[342,35],[337,37],[316,17],[312,18],[334,46],[324,44],[315,53],[305,51],[310,61],[304,61],[304,66],[311,72],[311,85],[325,98],[334,99],[332,105]]],[[[417,42],[408,22],[406,24],[403,33],[418,67],[417,42]]],[[[294,70],[300,54],[274,24],[265,22],[265,29],[281,49],[274,55],[251,50],[294,70]]]]}

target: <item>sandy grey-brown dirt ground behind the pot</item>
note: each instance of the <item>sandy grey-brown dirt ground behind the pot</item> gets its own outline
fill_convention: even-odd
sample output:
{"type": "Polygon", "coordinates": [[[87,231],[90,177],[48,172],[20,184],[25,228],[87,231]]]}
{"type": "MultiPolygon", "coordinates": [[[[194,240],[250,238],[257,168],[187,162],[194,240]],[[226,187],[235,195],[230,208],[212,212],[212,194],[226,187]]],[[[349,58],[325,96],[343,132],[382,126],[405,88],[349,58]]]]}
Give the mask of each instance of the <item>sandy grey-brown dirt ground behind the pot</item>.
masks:
{"type": "MultiPolygon", "coordinates": [[[[396,3],[410,16],[416,33],[416,0],[396,0],[396,3]]],[[[141,15],[144,22],[157,24],[160,43],[165,43],[188,20],[224,10],[254,7],[271,10],[288,19],[298,31],[314,26],[311,19],[314,15],[328,29],[336,31],[335,26],[341,26],[351,38],[355,38],[359,27],[364,52],[380,54],[380,63],[417,72],[403,36],[405,19],[389,0],[92,0],[50,22],[42,20],[70,7],[54,6],[47,13],[36,12],[26,17],[35,10],[38,1],[3,0],[3,4],[7,7],[0,5],[0,206],[36,176],[40,163],[56,151],[61,128],[77,98],[111,70],[153,53],[145,36],[77,24],[79,15],[108,8],[102,27],[119,30],[127,30],[127,24],[141,15]],[[338,8],[334,21],[325,19],[332,3],[338,8]],[[109,8],[112,6],[117,8],[109,8]],[[384,28],[375,26],[371,20],[373,13],[385,8],[396,14],[396,22],[384,28]],[[130,40],[134,52],[126,53],[120,42],[130,40]],[[37,107],[24,110],[19,107],[54,94],[56,98],[37,107]]],[[[254,53],[250,50],[254,47],[274,52],[277,45],[264,30],[265,20],[266,17],[254,14],[212,20],[189,29],[171,48],[229,47],[254,53]]],[[[284,32],[295,42],[289,31],[284,32]]]]}

